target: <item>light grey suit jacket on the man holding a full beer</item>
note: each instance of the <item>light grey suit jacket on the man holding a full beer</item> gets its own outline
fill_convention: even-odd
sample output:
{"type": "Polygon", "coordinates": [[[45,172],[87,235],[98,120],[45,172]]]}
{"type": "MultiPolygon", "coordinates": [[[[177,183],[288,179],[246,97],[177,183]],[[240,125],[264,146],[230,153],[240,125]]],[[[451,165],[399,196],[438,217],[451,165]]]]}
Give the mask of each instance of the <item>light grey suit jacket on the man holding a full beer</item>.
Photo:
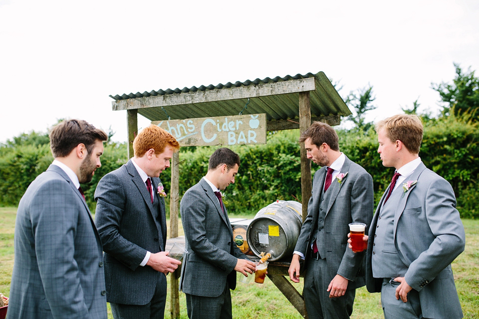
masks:
{"type": "MultiPolygon", "coordinates": [[[[394,217],[394,244],[401,261],[408,267],[405,279],[419,291],[425,318],[462,318],[452,261],[464,251],[466,234],[456,209],[451,184],[421,163],[407,180],[417,183],[404,192],[397,203],[394,217]]],[[[386,194],[389,190],[386,189],[386,194]]],[[[369,237],[375,235],[379,211],[376,209],[369,237]]],[[[371,256],[373,241],[368,242],[366,286],[369,292],[380,292],[382,279],[373,278],[371,256]]]]}

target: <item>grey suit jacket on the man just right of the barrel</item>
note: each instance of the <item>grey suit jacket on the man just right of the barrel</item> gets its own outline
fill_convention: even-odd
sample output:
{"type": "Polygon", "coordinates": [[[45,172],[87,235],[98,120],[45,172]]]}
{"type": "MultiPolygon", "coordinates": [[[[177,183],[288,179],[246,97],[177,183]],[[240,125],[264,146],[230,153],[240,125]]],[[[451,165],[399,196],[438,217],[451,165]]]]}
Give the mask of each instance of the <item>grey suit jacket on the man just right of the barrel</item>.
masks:
{"type": "MultiPolygon", "coordinates": [[[[299,251],[309,258],[312,240],[318,227],[318,209],[326,177],[326,167],[316,171],[313,178],[311,198],[308,202],[308,215],[301,226],[301,232],[296,242],[295,251],[299,251]]],[[[325,242],[317,245],[325,247],[325,257],[328,264],[328,276],[331,280],[336,274],[350,280],[348,289],[355,289],[365,285],[364,253],[353,253],[346,249],[348,244],[349,223],[366,224],[366,231],[373,216],[373,179],[360,165],[346,157],[341,173],[347,175],[339,183],[332,180],[329,190],[332,191],[327,205],[324,229],[325,242]]],[[[306,262],[304,263],[306,265],[306,262]]]]}

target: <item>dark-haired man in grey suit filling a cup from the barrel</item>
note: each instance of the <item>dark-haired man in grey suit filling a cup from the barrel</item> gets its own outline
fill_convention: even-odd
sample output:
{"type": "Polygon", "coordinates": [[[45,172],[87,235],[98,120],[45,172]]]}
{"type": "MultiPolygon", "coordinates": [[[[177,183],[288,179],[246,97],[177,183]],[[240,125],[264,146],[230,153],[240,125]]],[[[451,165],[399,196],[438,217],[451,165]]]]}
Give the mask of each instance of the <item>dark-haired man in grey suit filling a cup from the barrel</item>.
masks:
{"type": "Polygon", "coordinates": [[[186,294],[190,319],[232,318],[230,289],[236,288],[236,272],[247,276],[255,270],[233,240],[220,192],[235,182],[239,166],[238,154],[216,150],[206,176],[186,191],[180,203],[188,250],[180,290],[186,294]]]}

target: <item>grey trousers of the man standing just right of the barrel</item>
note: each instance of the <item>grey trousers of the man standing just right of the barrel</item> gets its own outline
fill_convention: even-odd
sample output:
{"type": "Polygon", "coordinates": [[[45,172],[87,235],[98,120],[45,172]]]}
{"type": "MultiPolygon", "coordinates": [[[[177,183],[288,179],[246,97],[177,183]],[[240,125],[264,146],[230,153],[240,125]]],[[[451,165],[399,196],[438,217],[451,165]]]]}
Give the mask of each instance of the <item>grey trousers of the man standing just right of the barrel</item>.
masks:
{"type": "Polygon", "coordinates": [[[329,298],[327,292],[332,278],[328,275],[326,259],[308,259],[304,274],[304,303],[309,319],[349,319],[353,313],[356,290],[347,290],[338,298],[329,298]]]}

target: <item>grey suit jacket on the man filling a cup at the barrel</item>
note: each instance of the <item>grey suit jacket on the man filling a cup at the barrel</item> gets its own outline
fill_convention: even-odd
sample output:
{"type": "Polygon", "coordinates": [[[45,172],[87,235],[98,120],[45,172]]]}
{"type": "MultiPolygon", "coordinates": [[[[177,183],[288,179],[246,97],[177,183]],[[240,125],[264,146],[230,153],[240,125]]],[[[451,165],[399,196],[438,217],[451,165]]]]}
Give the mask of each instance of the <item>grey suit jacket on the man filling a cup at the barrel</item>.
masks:
{"type": "Polygon", "coordinates": [[[233,240],[233,230],[220,202],[205,179],[188,189],[180,203],[187,256],[180,290],[184,293],[218,297],[226,283],[236,288],[238,258],[248,259],[233,240]]]}

